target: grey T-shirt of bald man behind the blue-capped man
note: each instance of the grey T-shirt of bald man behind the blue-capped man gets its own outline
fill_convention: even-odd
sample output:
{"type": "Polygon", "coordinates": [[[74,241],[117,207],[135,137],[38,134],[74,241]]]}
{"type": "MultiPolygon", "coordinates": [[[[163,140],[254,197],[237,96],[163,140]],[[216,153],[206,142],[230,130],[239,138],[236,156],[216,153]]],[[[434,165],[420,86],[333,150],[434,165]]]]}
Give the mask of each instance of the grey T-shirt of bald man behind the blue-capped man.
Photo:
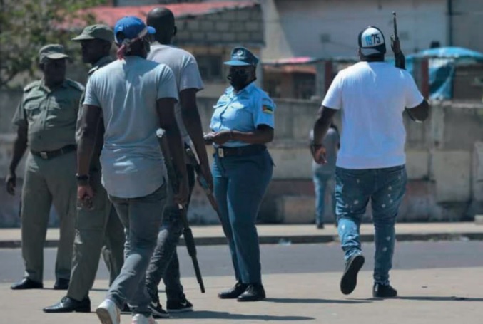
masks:
{"type": "MultiPolygon", "coordinates": [[[[193,55],[187,51],[171,45],[161,45],[153,43],[148,53],[148,60],[166,64],[173,70],[178,86],[178,93],[186,89],[203,89],[203,80],[201,80],[198,63],[193,55]]],[[[181,105],[178,103],[175,107],[176,121],[181,132],[181,137],[185,142],[190,142],[190,137],[183,124],[181,117],[181,105]]]]}

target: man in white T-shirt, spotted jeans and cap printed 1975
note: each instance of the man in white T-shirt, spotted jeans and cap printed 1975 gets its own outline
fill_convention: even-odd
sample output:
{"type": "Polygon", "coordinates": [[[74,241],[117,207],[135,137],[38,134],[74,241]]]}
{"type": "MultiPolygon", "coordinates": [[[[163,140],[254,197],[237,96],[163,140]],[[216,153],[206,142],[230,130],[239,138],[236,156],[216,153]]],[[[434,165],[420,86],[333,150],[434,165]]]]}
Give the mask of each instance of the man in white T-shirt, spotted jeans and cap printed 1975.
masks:
{"type": "Polygon", "coordinates": [[[349,294],[357,285],[357,273],[364,264],[359,227],[371,199],[376,247],[372,295],[389,298],[397,296],[390,286],[389,271],[395,220],[407,181],[402,113],[407,108],[416,120],[426,120],[429,105],[407,71],[385,63],[385,38],[379,28],[365,28],[358,41],[360,62],[337,74],[322,101],[314,125],[312,155],[317,163],[327,162],[320,139],[341,110],[335,199],[346,266],[340,290],[349,294]]]}

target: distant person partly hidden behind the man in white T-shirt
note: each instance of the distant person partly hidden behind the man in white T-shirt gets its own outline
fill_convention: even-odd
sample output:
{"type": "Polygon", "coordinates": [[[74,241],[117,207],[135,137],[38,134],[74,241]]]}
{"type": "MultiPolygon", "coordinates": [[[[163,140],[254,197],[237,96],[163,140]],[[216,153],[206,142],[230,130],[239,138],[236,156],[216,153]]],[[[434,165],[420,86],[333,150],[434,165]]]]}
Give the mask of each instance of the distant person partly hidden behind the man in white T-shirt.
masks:
{"type": "MultiPolygon", "coordinates": [[[[314,140],[314,132],[310,131],[310,142],[314,140]]],[[[335,216],[335,191],[334,191],[334,174],[335,174],[335,160],[337,160],[337,150],[340,147],[339,130],[334,123],[330,124],[322,140],[326,148],[327,163],[318,164],[312,161],[312,179],[315,189],[315,226],[317,229],[324,228],[324,214],[325,214],[325,194],[330,193],[330,205],[334,217],[335,226],[337,226],[337,219],[335,216]]]]}

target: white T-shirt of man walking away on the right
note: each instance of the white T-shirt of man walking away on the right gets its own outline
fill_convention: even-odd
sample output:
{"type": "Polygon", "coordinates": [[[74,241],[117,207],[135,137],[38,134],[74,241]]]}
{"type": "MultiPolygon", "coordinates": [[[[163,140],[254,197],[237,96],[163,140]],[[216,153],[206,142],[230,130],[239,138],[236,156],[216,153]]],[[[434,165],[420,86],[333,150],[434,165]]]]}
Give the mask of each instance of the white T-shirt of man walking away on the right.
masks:
{"type": "Polygon", "coordinates": [[[385,62],[341,70],[322,105],[342,110],[337,167],[377,169],[405,164],[404,108],[424,98],[410,73],[385,62]]]}

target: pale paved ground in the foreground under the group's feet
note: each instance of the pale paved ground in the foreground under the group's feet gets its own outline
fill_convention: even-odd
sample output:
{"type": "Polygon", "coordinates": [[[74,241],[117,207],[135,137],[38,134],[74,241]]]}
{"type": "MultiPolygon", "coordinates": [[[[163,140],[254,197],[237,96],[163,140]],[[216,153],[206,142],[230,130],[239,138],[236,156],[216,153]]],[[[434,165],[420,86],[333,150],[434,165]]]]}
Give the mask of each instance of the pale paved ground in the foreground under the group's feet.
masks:
{"type": "MultiPolygon", "coordinates": [[[[339,291],[341,273],[298,273],[264,276],[267,299],[257,303],[220,301],[216,294],[233,285],[233,277],[206,277],[201,294],[195,278],[183,278],[185,293],[193,303],[191,313],[173,315],[162,323],[359,323],[454,324],[481,323],[481,268],[449,268],[392,271],[392,283],[400,298],[375,300],[371,295],[372,271],[363,268],[350,296],[339,291]]],[[[51,287],[53,283],[45,282],[51,287]]],[[[91,310],[105,294],[107,281],[96,281],[91,310]]],[[[94,313],[45,314],[65,291],[51,289],[11,291],[0,284],[0,323],[86,324],[100,323],[94,313]]],[[[165,296],[160,294],[161,302],[165,296]]],[[[121,315],[121,323],[131,323],[121,315]]]]}

